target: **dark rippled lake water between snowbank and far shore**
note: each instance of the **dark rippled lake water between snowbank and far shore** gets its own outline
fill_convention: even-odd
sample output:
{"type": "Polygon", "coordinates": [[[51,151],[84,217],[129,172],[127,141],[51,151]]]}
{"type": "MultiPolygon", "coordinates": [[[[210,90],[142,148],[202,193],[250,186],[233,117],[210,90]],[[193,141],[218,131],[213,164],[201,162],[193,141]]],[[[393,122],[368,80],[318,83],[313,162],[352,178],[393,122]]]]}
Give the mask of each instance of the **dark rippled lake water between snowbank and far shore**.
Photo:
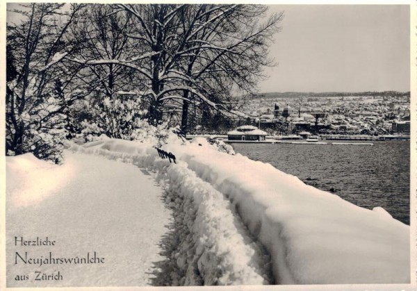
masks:
{"type": "Polygon", "coordinates": [[[409,142],[373,144],[234,143],[231,146],[237,153],[270,163],[307,185],[333,192],[357,206],[368,209],[381,206],[395,219],[409,224],[409,142]]]}

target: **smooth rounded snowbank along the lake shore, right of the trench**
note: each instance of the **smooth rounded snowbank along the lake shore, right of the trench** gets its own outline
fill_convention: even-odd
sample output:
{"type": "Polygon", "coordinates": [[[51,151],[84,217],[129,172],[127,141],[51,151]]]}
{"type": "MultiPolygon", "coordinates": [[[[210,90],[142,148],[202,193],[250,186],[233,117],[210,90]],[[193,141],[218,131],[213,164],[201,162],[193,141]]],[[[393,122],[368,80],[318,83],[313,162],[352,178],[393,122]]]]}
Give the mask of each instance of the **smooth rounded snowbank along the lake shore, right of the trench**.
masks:
{"type": "Polygon", "coordinates": [[[409,226],[241,155],[171,144],[268,249],[276,283],[409,283],[409,226]]]}

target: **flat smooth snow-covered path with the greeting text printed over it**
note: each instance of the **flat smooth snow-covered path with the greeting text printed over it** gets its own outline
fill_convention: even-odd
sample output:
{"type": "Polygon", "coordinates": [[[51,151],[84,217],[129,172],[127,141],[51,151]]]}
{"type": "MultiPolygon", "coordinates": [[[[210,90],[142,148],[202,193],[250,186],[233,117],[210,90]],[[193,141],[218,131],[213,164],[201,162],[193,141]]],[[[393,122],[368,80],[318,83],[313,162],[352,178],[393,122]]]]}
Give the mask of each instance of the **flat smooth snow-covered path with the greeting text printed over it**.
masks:
{"type": "Polygon", "coordinates": [[[170,223],[163,190],[151,174],[134,165],[80,153],[65,156],[60,167],[45,166],[31,155],[24,155],[23,161],[22,156],[8,160],[8,286],[149,285],[154,263],[164,259],[158,244],[170,223]],[[18,242],[15,246],[15,237],[49,237],[56,244],[25,247],[18,242]],[[49,251],[56,258],[96,252],[105,260],[103,264],[40,266],[18,259],[15,265],[15,253],[26,251],[31,258],[47,258],[49,251]],[[59,271],[63,279],[33,281],[36,271],[59,271]],[[18,275],[29,279],[16,281],[18,275]]]}

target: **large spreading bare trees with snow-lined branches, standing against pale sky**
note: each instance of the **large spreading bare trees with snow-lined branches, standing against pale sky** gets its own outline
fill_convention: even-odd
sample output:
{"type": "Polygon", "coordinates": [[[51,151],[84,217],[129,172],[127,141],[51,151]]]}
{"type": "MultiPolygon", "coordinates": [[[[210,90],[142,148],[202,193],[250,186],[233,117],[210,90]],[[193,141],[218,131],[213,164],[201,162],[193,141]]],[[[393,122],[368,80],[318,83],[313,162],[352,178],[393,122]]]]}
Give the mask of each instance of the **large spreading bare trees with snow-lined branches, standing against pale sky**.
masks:
{"type": "Polygon", "coordinates": [[[190,99],[226,109],[220,103],[222,86],[215,88],[219,82],[213,80],[226,78],[241,90],[255,87],[262,66],[271,64],[266,58],[268,44],[282,18],[282,14],[272,15],[262,23],[266,6],[126,4],[113,8],[114,13],[127,12],[134,19],[135,31],[126,35],[138,42],[138,55],[73,60],[135,69],[146,88],[131,93],[149,103],[149,122],[157,124],[167,105],[180,100],[183,131],[190,99]]]}

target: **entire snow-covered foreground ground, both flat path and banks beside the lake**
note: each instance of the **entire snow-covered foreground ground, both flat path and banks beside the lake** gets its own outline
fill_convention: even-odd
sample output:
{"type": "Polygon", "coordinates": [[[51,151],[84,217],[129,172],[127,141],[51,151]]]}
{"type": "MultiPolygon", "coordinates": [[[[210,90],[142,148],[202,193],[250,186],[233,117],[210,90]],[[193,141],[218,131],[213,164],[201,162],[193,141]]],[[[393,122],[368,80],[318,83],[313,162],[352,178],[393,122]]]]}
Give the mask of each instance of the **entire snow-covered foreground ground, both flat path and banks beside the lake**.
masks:
{"type": "Polygon", "coordinates": [[[56,240],[54,257],[96,252],[106,259],[103,265],[45,268],[67,276],[61,285],[410,281],[409,226],[380,207],[359,208],[205,140],[172,137],[163,150],[174,153],[177,163],[142,142],[67,146],[76,154],[67,153],[61,167],[31,154],[7,160],[8,285],[19,285],[14,276],[39,269],[13,266],[15,251],[48,255],[44,247],[13,247],[19,235],[49,235],[56,240]],[[158,173],[165,197],[139,167],[158,173]],[[166,258],[156,255],[160,251],[166,258]]]}

